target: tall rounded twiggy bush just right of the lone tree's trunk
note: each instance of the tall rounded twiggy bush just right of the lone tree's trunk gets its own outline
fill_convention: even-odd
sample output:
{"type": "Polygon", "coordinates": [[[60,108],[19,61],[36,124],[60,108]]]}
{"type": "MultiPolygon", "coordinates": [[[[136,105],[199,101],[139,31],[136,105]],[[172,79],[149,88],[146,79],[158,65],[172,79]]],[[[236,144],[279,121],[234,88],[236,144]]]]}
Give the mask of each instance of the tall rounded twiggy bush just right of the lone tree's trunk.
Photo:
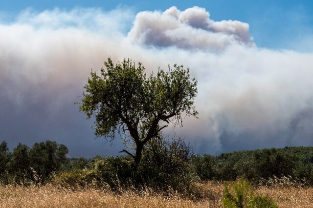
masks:
{"type": "Polygon", "coordinates": [[[143,152],[138,171],[143,184],[165,191],[168,187],[183,190],[190,186],[189,161],[192,152],[182,139],[152,140],[143,152]]]}

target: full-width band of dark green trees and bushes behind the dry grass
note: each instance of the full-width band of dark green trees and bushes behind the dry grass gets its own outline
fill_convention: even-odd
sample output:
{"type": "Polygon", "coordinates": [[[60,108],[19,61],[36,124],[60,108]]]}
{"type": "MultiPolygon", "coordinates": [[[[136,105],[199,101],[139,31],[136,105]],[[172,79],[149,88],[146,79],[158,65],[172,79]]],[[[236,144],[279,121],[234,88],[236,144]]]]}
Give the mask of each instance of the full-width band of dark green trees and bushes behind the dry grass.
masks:
{"type": "Polygon", "coordinates": [[[313,147],[285,147],[235,151],[212,156],[193,155],[182,139],[152,140],[143,150],[135,170],[129,155],[68,158],[65,145],[52,141],[28,147],[18,144],[9,151],[0,144],[2,184],[44,184],[56,180],[65,186],[109,185],[112,189],[152,185],[177,189],[192,182],[234,181],[245,178],[254,184],[273,177],[313,185],[313,147]],[[117,183],[118,181],[118,183],[117,183]]]}

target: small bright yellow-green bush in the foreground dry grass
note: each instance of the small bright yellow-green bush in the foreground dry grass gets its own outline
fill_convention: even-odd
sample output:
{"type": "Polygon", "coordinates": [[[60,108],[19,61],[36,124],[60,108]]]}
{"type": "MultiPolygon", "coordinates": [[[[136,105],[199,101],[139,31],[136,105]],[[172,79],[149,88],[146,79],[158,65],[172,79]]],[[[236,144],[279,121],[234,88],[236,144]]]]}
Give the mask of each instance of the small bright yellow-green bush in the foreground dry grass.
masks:
{"type": "Polygon", "coordinates": [[[255,195],[248,181],[240,179],[225,185],[224,208],[278,208],[267,196],[255,195]]]}

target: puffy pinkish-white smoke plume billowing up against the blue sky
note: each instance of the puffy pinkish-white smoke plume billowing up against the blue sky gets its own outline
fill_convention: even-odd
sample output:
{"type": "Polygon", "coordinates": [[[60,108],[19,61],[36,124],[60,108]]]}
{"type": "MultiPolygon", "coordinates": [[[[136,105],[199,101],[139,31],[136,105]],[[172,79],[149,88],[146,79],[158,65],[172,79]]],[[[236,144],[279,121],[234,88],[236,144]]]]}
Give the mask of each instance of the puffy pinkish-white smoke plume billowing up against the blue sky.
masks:
{"type": "Polygon", "coordinates": [[[249,25],[241,21],[213,21],[204,8],[179,11],[175,6],[161,13],[139,12],[129,38],[134,42],[159,47],[221,51],[233,44],[254,45],[249,25]]]}

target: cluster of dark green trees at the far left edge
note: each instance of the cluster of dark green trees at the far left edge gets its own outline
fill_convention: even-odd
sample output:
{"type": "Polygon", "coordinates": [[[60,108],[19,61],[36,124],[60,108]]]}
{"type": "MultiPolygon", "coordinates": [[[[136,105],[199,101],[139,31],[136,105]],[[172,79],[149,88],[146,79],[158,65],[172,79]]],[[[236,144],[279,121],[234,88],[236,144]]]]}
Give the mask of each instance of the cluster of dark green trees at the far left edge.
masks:
{"type": "Polygon", "coordinates": [[[65,145],[45,141],[29,148],[21,143],[10,152],[7,143],[0,144],[1,184],[43,184],[68,160],[65,145]]]}

